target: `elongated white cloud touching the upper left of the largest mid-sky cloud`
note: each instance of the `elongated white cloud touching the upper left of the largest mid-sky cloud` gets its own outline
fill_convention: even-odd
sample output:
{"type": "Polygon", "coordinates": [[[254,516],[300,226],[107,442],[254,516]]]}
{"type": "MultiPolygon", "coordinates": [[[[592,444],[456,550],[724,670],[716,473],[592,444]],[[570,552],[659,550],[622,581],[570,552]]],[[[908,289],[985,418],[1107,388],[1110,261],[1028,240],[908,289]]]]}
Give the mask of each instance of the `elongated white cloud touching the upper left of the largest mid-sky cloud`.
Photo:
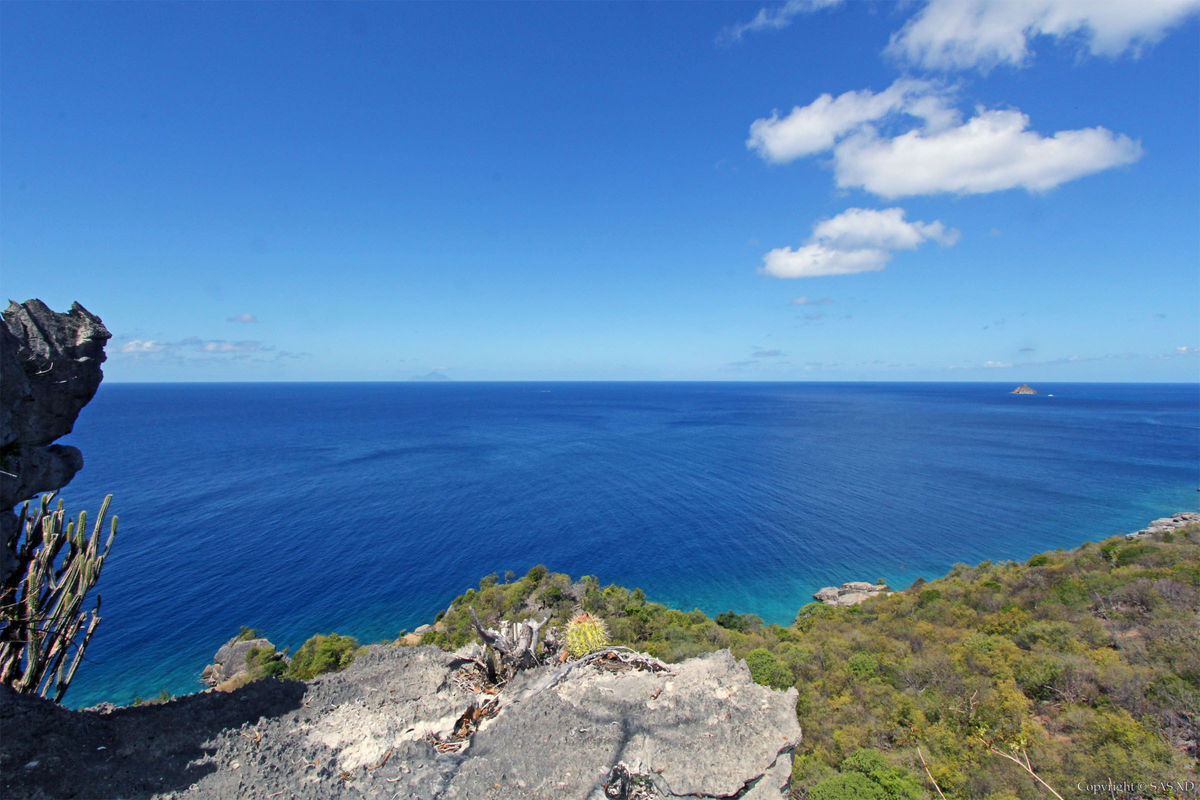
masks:
{"type": "Polygon", "coordinates": [[[896,112],[935,120],[938,126],[947,122],[948,114],[954,121],[958,116],[934,84],[901,78],[878,94],[864,89],[838,97],[821,95],[808,106],[797,106],[787,116],[775,112],[755,120],[746,146],[767,161],[785,163],[829,150],[864,124],[896,112]]]}

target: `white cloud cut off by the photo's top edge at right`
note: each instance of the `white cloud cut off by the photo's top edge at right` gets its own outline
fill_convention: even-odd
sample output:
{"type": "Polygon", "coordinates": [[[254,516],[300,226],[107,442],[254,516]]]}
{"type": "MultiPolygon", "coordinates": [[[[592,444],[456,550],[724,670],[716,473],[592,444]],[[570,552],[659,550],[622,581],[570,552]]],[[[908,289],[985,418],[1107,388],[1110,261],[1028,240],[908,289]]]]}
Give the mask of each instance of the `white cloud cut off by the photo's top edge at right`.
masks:
{"type": "Polygon", "coordinates": [[[1093,55],[1136,54],[1200,11],[1200,0],[929,0],[887,53],[930,70],[1021,66],[1030,42],[1052,36],[1093,55]]]}

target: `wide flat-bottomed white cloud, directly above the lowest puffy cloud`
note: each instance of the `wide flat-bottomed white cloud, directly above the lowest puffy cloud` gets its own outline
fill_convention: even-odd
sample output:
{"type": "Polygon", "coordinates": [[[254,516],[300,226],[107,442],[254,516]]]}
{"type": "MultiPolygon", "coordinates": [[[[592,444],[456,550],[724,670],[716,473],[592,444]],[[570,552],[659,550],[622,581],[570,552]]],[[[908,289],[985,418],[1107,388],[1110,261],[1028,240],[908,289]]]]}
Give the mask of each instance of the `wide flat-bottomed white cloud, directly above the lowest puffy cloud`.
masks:
{"type": "Polygon", "coordinates": [[[838,186],[886,198],[1019,187],[1044,192],[1141,157],[1140,144],[1103,127],[1043,137],[1028,125],[1018,110],[980,109],[965,124],[934,133],[884,138],[863,130],[834,150],[838,186]]]}

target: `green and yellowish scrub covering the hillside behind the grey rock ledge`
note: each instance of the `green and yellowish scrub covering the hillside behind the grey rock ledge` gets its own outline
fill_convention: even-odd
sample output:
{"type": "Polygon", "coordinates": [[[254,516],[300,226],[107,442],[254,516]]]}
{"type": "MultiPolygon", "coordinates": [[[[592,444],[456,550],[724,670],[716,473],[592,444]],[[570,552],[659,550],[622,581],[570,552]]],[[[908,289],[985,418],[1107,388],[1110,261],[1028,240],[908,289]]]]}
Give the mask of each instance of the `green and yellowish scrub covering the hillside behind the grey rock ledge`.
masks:
{"type": "Polygon", "coordinates": [[[1064,796],[1110,777],[1200,780],[1196,527],[956,565],[860,606],[809,603],[786,627],[535,567],[488,576],[424,643],[472,640],[468,604],[488,625],[548,615],[559,630],[582,609],[665,661],[731,648],[760,684],[798,690],[800,799],[937,796],[932,780],[948,799],[1050,796],[1026,764],[1064,796]]]}

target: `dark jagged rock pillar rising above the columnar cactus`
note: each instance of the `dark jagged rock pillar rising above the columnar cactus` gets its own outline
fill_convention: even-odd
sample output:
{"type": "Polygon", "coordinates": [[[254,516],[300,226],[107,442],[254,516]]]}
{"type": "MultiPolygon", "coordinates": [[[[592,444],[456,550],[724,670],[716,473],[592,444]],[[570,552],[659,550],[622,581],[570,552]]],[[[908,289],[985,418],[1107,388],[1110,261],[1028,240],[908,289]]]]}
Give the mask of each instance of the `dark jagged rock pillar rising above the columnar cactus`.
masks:
{"type": "Polygon", "coordinates": [[[41,300],[11,302],[0,325],[0,581],[16,564],[19,535],[11,509],[62,488],[83,469],[71,433],[103,378],[112,333],[79,303],[59,314],[41,300]]]}

